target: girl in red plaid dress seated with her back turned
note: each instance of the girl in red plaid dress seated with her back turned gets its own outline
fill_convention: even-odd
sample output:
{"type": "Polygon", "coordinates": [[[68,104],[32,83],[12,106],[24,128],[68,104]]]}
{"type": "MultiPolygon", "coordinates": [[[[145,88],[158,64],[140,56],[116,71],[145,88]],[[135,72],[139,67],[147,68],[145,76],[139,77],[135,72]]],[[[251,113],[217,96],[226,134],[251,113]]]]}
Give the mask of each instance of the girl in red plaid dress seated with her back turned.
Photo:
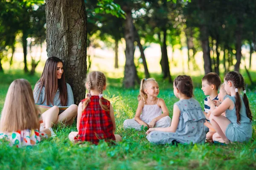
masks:
{"type": "Polygon", "coordinates": [[[88,90],[87,98],[78,106],[77,130],[69,134],[70,141],[92,142],[99,140],[121,141],[121,136],[114,134],[116,122],[113,107],[102,92],[106,89],[106,77],[102,72],[93,71],[87,75],[85,86],[88,90]]]}

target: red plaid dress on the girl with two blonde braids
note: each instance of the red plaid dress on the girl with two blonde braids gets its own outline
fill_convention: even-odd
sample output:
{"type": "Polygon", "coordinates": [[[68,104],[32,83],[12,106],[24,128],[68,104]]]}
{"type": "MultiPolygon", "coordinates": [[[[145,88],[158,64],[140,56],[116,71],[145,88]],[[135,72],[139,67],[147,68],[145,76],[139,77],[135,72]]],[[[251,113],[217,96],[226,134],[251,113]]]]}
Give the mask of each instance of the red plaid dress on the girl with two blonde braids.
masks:
{"type": "MultiPolygon", "coordinates": [[[[75,141],[89,141],[93,144],[98,144],[100,139],[115,141],[110,112],[101,108],[99,96],[92,96],[90,100],[82,113],[79,133],[75,137],[75,141]]],[[[85,99],[81,102],[84,101],[85,99]]],[[[102,98],[102,104],[108,105],[108,108],[110,106],[110,102],[104,98],[102,98]]]]}

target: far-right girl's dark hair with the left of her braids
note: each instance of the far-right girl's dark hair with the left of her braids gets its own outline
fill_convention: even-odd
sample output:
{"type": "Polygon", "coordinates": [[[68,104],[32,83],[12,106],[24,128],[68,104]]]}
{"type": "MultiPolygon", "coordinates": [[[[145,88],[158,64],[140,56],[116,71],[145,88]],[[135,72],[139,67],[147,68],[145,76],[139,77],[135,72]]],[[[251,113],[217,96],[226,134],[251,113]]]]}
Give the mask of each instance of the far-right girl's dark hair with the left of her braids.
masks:
{"type": "MultiPolygon", "coordinates": [[[[224,78],[225,81],[232,81],[235,88],[239,88],[241,86],[241,77],[240,75],[235,72],[235,71],[230,71],[224,78]]],[[[237,120],[236,122],[238,124],[240,124],[240,120],[241,120],[241,114],[240,114],[240,110],[241,110],[241,97],[239,95],[239,91],[236,91],[236,103],[235,103],[235,108],[236,108],[236,117],[237,120]]]]}

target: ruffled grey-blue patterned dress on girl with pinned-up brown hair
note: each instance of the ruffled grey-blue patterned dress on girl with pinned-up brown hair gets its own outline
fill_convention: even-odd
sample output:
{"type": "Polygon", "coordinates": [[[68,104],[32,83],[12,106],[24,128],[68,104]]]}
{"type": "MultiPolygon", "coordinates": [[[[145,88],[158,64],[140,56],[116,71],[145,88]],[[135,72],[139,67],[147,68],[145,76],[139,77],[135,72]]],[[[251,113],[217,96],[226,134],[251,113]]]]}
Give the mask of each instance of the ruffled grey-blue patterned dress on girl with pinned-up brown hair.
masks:
{"type": "Polygon", "coordinates": [[[152,131],[147,139],[151,143],[166,144],[174,140],[184,143],[204,143],[206,134],[204,131],[205,116],[199,102],[193,98],[176,102],[180,109],[180,120],[175,133],[152,131]]]}

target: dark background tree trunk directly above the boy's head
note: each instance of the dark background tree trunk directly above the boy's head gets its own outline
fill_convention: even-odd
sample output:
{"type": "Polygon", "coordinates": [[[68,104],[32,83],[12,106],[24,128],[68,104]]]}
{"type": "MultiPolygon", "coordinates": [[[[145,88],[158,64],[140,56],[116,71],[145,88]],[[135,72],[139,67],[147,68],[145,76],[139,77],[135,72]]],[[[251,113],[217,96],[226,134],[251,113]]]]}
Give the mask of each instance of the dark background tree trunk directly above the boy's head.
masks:
{"type": "Polygon", "coordinates": [[[203,58],[204,58],[204,74],[212,72],[212,63],[210,57],[209,49],[209,34],[206,26],[201,27],[201,43],[203,48],[203,58]]]}

